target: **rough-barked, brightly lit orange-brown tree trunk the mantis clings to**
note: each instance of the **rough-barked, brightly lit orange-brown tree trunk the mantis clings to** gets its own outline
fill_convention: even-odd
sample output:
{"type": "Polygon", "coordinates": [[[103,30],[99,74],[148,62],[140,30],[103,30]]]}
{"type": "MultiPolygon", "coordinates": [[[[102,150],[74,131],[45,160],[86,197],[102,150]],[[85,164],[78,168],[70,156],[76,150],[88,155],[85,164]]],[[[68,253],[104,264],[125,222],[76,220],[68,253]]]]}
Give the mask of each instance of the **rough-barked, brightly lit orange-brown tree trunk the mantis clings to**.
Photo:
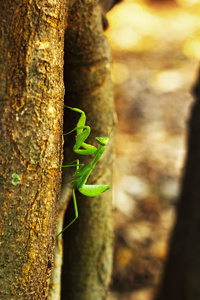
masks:
{"type": "Polygon", "coordinates": [[[64,1],[0,1],[0,299],[46,299],[62,163],[64,1]]]}

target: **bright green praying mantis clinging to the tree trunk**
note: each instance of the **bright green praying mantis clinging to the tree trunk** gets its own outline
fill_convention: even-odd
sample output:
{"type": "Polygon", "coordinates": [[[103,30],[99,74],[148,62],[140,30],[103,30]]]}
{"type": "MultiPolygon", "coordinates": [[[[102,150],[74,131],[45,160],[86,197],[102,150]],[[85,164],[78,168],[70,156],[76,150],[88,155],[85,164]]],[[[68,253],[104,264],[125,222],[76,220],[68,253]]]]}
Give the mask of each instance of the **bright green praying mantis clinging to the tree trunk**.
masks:
{"type": "Polygon", "coordinates": [[[90,173],[92,172],[97,162],[100,160],[102,154],[104,153],[106,145],[109,142],[109,138],[97,137],[96,140],[99,143],[99,148],[86,144],[85,140],[90,134],[90,127],[85,125],[86,116],[84,111],[74,107],[69,107],[69,106],[67,107],[73,111],[79,112],[81,114],[81,117],[77,123],[77,126],[73,130],[65,133],[64,135],[69,134],[76,130],[77,135],[76,135],[76,143],[73,147],[74,152],[82,155],[94,155],[95,157],[94,160],[86,167],[84,167],[84,164],[80,164],[78,159],[72,161],[68,165],[61,166],[61,167],[76,167],[76,171],[73,175],[74,178],[70,180],[70,182],[73,182],[72,193],[73,193],[75,218],[56,236],[56,239],[61,233],[63,233],[63,231],[65,231],[78,218],[78,208],[77,208],[76,195],[75,195],[76,189],[79,190],[81,194],[89,197],[99,196],[103,192],[110,189],[110,186],[108,185],[87,185],[86,184],[87,179],[90,176],[90,173]]]}

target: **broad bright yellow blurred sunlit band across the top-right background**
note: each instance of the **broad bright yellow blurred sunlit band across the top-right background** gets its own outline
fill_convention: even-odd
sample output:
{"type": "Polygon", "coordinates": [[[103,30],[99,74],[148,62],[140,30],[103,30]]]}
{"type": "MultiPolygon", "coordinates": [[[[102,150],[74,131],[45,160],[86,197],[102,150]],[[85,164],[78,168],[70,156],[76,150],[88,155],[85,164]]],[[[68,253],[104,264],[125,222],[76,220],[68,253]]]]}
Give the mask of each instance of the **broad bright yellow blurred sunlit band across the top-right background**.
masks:
{"type": "MultiPolygon", "coordinates": [[[[192,0],[179,2],[191,3],[192,0]]],[[[175,44],[179,44],[185,55],[189,58],[200,58],[200,52],[195,49],[194,44],[190,48],[190,43],[187,43],[191,36],[193,43],[197,43],[200,35],[200,5],[196,1],[196,7],[195,1],[193,2],[190,10],[185,9],[186,4],[178,8],[168,6],[159,10],[135,1],[122,2],[108,13],[110,27],[106,35],[112,49],[155,52],[176,39],[175,44]]]]}

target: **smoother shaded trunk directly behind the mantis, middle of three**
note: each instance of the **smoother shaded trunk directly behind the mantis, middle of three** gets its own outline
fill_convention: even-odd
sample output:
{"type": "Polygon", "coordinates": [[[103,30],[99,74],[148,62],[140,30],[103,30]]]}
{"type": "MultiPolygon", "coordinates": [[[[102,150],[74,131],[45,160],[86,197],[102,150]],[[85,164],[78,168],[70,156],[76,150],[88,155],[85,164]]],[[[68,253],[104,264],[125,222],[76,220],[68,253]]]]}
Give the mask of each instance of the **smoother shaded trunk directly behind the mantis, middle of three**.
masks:
{"type": "MultiPolygon", "coordinates": [[[[110,137],[88,184],[112,185],[115,115],[110,71],[110,49],[102,31],[99,3],[76,1],[69,8],[65,34],[65,104],[85,111],[86,124],[91,127],[87,143],[98,147],[95,137],[110,137]]],[[[79,118],[78,113],[66,108],[64,132],[75,128],[79,118]]],[[[74,143],[75,133],[65,136],[64,164],[77,158],[74,143]]],[[[85,165],[93,160],[92,156],[78,158],[85,165]]],[[[65,182],[74,171],[63,168],[60,214],[66,208],[70,187],[65,182]]],[[[105,299],[112,269],[112,192],[85,197],[76,191],[76,197],[79,218],[63,234],[61,299],[105,299]]],[[[69,215],[73,218],[74,211],[69,215]]]]}

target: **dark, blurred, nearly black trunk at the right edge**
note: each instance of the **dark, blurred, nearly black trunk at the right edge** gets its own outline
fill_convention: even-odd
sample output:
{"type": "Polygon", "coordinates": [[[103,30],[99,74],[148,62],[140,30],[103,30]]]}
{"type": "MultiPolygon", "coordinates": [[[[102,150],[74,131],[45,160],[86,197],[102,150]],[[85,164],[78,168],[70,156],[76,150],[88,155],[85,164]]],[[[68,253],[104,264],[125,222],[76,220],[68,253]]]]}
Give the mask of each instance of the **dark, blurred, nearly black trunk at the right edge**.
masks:
{"type": "Polygon", "coordinates": [[[177,221],[156,300],[200,299],[200,76],[194,94],[177,221]]]}

